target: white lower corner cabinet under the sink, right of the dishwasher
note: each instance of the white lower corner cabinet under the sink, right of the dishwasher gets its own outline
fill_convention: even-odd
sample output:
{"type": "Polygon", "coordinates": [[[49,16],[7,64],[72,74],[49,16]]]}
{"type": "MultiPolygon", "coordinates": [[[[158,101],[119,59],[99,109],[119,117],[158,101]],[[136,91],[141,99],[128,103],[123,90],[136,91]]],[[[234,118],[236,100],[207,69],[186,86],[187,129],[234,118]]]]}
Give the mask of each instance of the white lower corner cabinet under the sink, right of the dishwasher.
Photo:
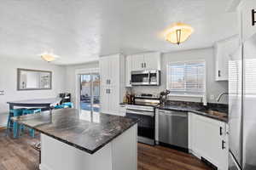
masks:
{"type": "Polygon", "coordinates": [[[227,125],[206,116],[189,113],[189,151],[207,159],[221,170],[228,170],[227,125]]]}

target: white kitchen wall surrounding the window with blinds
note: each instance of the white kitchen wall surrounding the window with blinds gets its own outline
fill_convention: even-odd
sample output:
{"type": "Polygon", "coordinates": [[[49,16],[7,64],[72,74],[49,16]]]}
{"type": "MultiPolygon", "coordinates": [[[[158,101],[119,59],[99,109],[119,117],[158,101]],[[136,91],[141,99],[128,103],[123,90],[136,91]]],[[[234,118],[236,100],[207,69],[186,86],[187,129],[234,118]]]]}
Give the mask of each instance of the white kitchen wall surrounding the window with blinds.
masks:
{"type": "MultiPolygon", "coordinates": [[[[176,61],[190,61],[205,59],[207,63],[207,102],[217,103],[218,94],[228,92],[228,82],[215,81],[215,59],[213,48],[200,48],[174,53],[162,54],[161,57],[161,86],[160,87],[136,87],[133,88],[135,93],[159,94],[160,91],[166,89],[166,64],[176,61]],[[210,99],[213,95],[214,99],[210,99]]],[[[192,100],[192,99],[191,99],[192,100]]],[[[220,103],[228,103],[228,99],[224,96],[220,103]]]]}

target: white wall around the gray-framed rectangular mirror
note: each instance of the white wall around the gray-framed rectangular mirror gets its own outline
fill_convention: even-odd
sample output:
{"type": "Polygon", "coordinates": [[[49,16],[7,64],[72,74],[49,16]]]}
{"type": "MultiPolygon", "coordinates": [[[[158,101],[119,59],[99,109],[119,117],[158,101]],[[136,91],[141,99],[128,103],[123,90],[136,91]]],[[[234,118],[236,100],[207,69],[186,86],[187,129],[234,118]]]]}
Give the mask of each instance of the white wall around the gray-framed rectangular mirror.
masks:
{"type": "Polygon", "coordinates": [[[0,90],[4,90],[4,95],[0,95],[0,127],[7,121],[7,101],[56,97],[65,91],[65,74],[64,66],[51,65],[41,60],[28,61],[0,56],[0,90]],[[17,68],[52,71],[52,89],[17,91],[17,68]]]}

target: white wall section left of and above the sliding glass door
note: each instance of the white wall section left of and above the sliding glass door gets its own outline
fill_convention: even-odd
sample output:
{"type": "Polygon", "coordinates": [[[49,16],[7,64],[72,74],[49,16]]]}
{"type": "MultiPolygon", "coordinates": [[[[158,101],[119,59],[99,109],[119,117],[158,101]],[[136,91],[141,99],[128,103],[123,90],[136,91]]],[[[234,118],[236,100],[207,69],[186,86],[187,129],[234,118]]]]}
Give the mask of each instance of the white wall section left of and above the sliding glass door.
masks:
{"type": "Polygon", "coordinates": [[[99,68],[99,62],[91,62],[83,65],[68,65],[66,66],[66,91],[71,93],[72,102],[76,105],[76,70],[79,69],[89,69],[89,68],[99,68]]]}

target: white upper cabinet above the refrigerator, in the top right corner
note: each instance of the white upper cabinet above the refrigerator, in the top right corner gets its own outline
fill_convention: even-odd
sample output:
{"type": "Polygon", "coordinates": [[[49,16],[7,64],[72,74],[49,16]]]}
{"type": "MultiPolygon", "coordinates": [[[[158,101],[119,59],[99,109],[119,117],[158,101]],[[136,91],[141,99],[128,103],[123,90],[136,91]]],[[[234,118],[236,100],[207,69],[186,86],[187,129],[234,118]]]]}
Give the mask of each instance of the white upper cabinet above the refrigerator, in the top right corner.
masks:
{"type": "MultiPolygon", "coordinates": [[[[256,11],[255,0],[243,0],[238,6],[241,37],[243,42],[256,33],[256,24],[253,26],[252,10],[256,11]]],[[[256,20],[256,14],[254,14],[256,20]]]]}

